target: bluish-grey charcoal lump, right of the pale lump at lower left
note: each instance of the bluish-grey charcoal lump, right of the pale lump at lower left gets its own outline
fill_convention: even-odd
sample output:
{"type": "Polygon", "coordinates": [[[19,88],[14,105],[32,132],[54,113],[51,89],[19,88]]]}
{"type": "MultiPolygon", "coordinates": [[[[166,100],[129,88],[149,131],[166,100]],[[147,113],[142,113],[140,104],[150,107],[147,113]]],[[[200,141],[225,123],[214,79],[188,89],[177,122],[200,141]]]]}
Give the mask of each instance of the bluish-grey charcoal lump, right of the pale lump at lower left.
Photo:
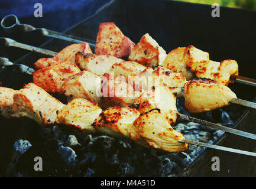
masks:
{"type": "Polygon", "coordinates": [[[76,152],[67,146],[59,146],[57,149],[57,152],[61,155],[61,157],[66,161],[68,165],[74,165],[74,162],[76,162],[76,152]]]}

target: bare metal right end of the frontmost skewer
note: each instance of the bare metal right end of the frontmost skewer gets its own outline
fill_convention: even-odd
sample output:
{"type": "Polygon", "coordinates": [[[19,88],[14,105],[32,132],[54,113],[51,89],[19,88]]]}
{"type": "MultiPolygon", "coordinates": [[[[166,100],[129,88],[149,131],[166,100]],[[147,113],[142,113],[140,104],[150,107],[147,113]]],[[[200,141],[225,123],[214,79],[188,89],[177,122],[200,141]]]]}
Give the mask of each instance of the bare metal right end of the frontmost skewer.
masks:
{"type": "Polygon", "coordinates": [[[252,157],[256,157],[256,153],[243,151],[241,149],[228,148],[228,147],[224,147],[224,146],[208,144],[208,143],[205,143],[205,142],[191,141],[189,139],[183,139],[182,141],[179,141],[179,142],[192,144],[192,145],[196,145],[196,146],[203,146],[203,147],[206,147],[206,148],[219,149],[219,150],[222,150],[222,151],[233,152],[233,153],[236,153],[236,154],[243,154],[243,155],[249,155],[249,156],[252,156],[252,157]]]}

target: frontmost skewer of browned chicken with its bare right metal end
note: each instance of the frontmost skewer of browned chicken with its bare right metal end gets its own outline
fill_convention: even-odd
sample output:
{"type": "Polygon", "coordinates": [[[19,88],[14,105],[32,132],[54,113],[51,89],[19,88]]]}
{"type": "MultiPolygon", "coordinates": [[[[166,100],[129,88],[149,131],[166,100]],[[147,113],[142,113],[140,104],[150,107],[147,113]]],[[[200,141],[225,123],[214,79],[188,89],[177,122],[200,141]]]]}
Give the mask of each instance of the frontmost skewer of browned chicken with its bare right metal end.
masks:
{"type": "MultiPolygon", "coordinates": [[[[5,90],[11,89],[0,87],[0,91],[5,90]]],[[[252,152],[187,140],[171,128],[160,109],[140,113],[134,107],[115,106],[102,111],[96,103],[86,99],[74,99],[65,106],[34,83],[28,83],[15,93],[5,93],[1,99],[1,109],[11,107],[6,117],[27,116],[44,126],[57,123],[83,133],[101,132],[168,152],[184,151],[189,143],[256,157],[252,152]],[[13,102],[10,102],[12,97],[13,102]]]]}

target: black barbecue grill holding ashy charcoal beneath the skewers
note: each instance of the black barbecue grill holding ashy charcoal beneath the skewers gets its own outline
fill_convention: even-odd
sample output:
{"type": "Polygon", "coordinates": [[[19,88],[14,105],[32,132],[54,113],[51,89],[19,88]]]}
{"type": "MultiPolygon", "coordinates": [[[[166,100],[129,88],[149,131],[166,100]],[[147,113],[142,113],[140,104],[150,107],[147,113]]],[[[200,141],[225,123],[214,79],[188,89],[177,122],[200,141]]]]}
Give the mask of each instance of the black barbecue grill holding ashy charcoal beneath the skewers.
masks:
{"type": "MultiPolygon", "coordinates": [[[[255,12],[221,8],[221,18],[212,18],[210,11],[211,9],[208,5],[185,4],[182,2],[147,1],[147,4],[145,4],[144,1],[113,1],[112,4],[101,9],[98,14],[70,28],[70,30],[67,31],[67,34],[95,40],[99,23],[113,21],[122,29],[124,34],[133,41],[140,40],[140,37],[145,32],[148,32],[166,51],[170,51],[176,47],[194,44],[200,49],[209,51],[213,60],[223,60],[228,57],[237,60],[241,75],[255,78],[255,66],[252,64],[255,61],[255,48],[253,47],[253,44],[255,44],[255,38],[253,35],[250,36],[251,38],[248,38],[249,32],[252,34],[255,32],[255,27],[252,24],[248,24],[248,21],[252,22],[256,18],[255,12]],[[132,14],[129,14],[129,12],[132,12],[132,14]],[[184,12],[186,12],[186,14],[184,14],[184,12]],[[247,20],[247,23],[243,21],[244,19],[247,20]],[[246,32],[245,28],[247,28],[246,32]],[[244,50],[245,47],[246,51],[244,50]]],[[[50,43],[45,44],[44,48],[59,51],[69,44],[71,43],[61,40],[53,40],[50,41],[50,43]]],[[[26,63],[28,66],[32,67],[32,64],[41,57],[45,56],[36,53],[28,53],[26,56],[15,62],[26,63]]],[[[13,74],[14,72],[13,70],[9,70],[9,72],[3,73],[13,74]]],[[[22,81],[30,80],[27,75],[15,77],[22,81]]],[[[6,80],[3,81],[3,84],[11,85],[11,82],[6,80]]],[[[239,98],[250,101],[254,100],[254,87],[238,83],[231,84],[230,87],[239,98]]],[[[182,108],[184,107],[183,99],[179,99],[178,103],[180,105],[178,106],[179,112],[186,112],[186,110],[182,108]]],[[[255,128],[253,126],[255,124],[255,110],[235,105],[225,107],[222,110],[224,113],[220,113],[219,110],[217,110],[212,114],[208,112],[197,115],[195,114],[193,116],[210,120],[212,122],[218,122],[221,120],[223,123],[231,127],[255,133],[255,128]],[[230,125],[231,122],[234,122],[234,124],[230,125]]],[[[11,125],[14,124],[15,120],[1,120],[1,122],[11,125]]],[[[61,131],[59,131],[59,135],[54,134],[54,132],[58,133],[56,127],[53,129],[46,129],[46,131],[38,126],[31,127],[35,125],[35,123],[28,121],[27,119],[25,119],[24,122],[30,123],[28,125],[30,125],[30,129],[32,128],[31,130],[33,133],[38,132],[40,135],[43,135],[41,136],[42,138],[46,139],[46,146],[40,146],[40,148],[47,148],[47,145],[53,144],[54,142],[56,143],[58,138],[61,144],[61,140],[65,140],[67,137],[64,133],[61,133],[61,131]],[[35,128],[39,131],[35,131],[35,128]],[[49,138],[51,138],[50,142],[49,138]]],[[[179,124],[174,126],[174,129],[177,129],[178,131],[180,129],[182,132],[186,130],[186,133],[184,133],[185,137],[187,135],[194,135],[198,136],[200,140],[205,142],[213,142],[213,144],[223,144],[224,146],[231,146],[247,151],[255,151],[253,142],[249,139],[226,135],[223,132],[215,132],[212,129],[205,128],[204,126],[200,126],[195,123],[185,123],[182,120],[178,123],[179,124]],[[184,129],[184,127],[186,127],[186,129],[184,129]]],[[[73,148],[77,149],[77,151],[75,150],[77,154],[80,153],[83,155],[80,157],[77,156],[77,159],[81,159],[79,159],[79,161],[74,165],[68,165],[67,170],[69,169],[69,171],[65,172],[64,170],[63,174],[79,176],[80,174],[84,174],[86,176],[142,175],[164,177],[168,175],[174,177],[181,175],[214,175],[216,173],[210,170],[210,159],[214,156],[221,159],[221,166],[223,166],[223,171],[221,171],[222,175],[225,175],[226,170],[228,169],[234,170],[233,167],[229,168],[229,166],[236,164],[237,161],[252,162],[251,166],[255,165],[253,164],[254,162],[252,157],[235,155],[236,158],[232,158],[234,155],[228,154],[228,152],[209,149],[205,150],[200,147],[192,147],[191,145],[190,147],[192,148],[188,153],[185,151],[180,154],[168,154],[150,151],[140,146],[118,141],[117,139],[112,139],[107,136],[92,136],[92,138],[90,138],[90,136],[77,136],[77,138],[84,140],[83,142],[85,142],[86,146],[80,148],[79,145],[76,145],[73,146],[73,148]],[[99,152],[95,152],[95,148],[99,148],[99,152]],[[132,152],[135,153],[137,157],[133,157],[130,160],[126,159],[127,157],[132,157],[132,152]],[[100,168],[104,165],[100,160],[102,158],[109,159],[109,161],[106,161],[107,165],[104,166],[106,168],[103,168],[103,170],[100,168]],[[136,164],[136,161],[144,162],[144,164],[136,164]],[[142,167],[140,168],[140,171],[135,168],[137,166],[142,167]],[[109,167],[112,168],[109,169],[109,167]]],[[[65,142],[67,143],[67,141],[65,142]]],[[[60,144],[55,145],[61,151],[61,148],[59,148],[60,144]]],[[[27,154],[33,154],[31,151],[33,151],[33,149],[30,151],[28,150],[27,154]]],[[[42,152],[40,153],[42,154],[42,152]]],[[[56,152],[53,150],[51,153],[54,154],[56,152]]],[[[29,155],[27,156],[29,157],[29,155]]],[[[48,156],[53,157],[53,155],[48,156]]],[[[56,158],[53,159],[56,161],[56,158]]],[[[17,163],[17,170],[20,170],[21,172],[22,160],[25,161],[25,158],[21,158],[17,163]]],[[[49,160],[49,164],[51,164],[51,160],[49,160]]],[[[247,165],[247,168],[249,166],[250,165],[247,165]]],[[[60,169],[63,170],[63,167],[66,167],[65,162],[63,162],[63,166],[60,165],[60,169]]],[[[238,174],[238,172],[242,172],[241,170],[249,170],[249,168],[242,169],[239,166],[236,167],[234,175],[238,174]]],[[[56,168],[56,170],[58,170],[58,168],[56,168]]],[[[22,174],[29,174],[28,172],[22,172],[22,174]]],[[[51,174],[56,175],[54,172],[51,174]]],[[[248,172],[245,174],[248,174],[248,172]]]]}

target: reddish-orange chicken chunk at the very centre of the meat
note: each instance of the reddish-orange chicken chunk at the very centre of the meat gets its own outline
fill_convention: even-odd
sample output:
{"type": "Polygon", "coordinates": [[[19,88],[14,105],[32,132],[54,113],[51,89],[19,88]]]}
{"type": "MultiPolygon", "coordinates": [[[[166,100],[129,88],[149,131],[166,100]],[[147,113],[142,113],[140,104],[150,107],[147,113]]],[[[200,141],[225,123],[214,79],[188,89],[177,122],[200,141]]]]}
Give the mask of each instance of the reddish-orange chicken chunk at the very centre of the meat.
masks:
{"type": "Polygon", "coordinates": [[[114,77],[104,74],[101,84],[101,106],[103,109],[110,106],[128,107],[141,95],[140,89],[134,89],[122,76],[114,77]]]}

